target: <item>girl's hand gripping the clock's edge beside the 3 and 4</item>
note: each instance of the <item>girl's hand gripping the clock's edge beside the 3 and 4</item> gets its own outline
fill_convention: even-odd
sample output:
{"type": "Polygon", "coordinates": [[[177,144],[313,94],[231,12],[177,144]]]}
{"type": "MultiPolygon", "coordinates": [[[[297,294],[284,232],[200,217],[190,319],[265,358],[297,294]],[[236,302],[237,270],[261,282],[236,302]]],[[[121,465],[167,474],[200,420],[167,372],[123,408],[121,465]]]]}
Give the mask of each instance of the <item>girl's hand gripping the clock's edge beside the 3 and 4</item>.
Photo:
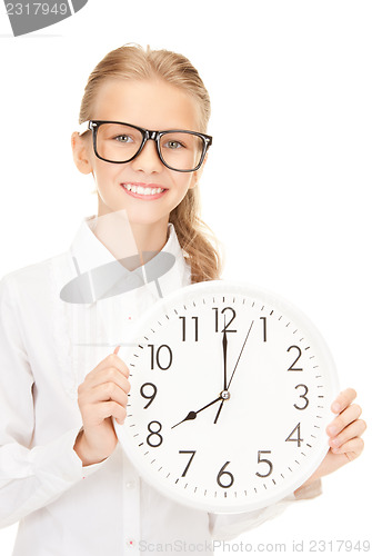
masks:
{"type": "Polygon", "coordinates": [[[316,471],[304,485],[335,471],[362,454],[364,443],[361,435],[366,429],[366,424],[359,418],[362,414],[361,407],[352,404],[355,397],[356,391],[348,388],[333,401],[331,410],[338,416],[325,429],[330,437],[330,449],[316,471]]]}

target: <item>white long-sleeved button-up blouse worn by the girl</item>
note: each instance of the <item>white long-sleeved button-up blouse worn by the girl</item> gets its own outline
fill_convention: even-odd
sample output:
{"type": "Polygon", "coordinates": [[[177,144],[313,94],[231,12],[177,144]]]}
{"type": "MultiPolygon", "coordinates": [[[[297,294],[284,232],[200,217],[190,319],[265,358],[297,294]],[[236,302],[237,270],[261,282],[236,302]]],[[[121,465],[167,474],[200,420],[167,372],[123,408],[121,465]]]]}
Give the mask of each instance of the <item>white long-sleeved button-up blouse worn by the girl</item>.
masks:
{"type": "MultiPolygon", "coordinates": [[[[0,281],[0,527],[19,523],[13,556],[127,556],[157,552],[211,554],[281,513],[296,498],[237,516],[193,510],[144,483],[121,445],[100,464],[82,466],[73,445],[82,426],[78,386],[122,345],[159,299],[145,267],[138,287],[88,304],[60,291],[80,274],[114,261],[84,218],[69,251],[18,269],[0,281]],[[167,544],[167,547],[165,547],[167,544]]],[[[175,257],[159,278],[163,296],[190,284],[173,226],[163,251],[175,257]]],[[[94,295],[94,276],[91,277],[94,295]]],[[[313,497],[319,483],[301,497],[313,497]]]]}

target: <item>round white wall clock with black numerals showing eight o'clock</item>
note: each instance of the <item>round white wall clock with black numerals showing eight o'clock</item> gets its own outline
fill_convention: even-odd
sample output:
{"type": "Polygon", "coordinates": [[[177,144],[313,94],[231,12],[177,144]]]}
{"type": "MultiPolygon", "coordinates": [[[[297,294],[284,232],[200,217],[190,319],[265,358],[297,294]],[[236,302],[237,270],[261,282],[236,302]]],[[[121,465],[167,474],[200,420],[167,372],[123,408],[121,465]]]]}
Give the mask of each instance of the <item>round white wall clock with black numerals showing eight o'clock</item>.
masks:
{"type": "Polygon", "coordinates": [[[210,281],[160,300],[125,358],[119,441],[139,474],[194,508],[239,513],[301,486],[328,451],[332,358],[288,301],[210,281]]]}

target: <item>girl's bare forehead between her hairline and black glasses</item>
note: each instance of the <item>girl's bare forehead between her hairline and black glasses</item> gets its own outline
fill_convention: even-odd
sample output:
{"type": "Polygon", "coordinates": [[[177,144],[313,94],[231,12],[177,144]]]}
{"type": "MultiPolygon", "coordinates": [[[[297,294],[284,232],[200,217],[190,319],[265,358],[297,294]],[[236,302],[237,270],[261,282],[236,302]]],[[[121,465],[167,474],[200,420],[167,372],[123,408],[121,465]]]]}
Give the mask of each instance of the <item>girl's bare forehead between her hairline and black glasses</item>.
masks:
{"type": "Polygon", "coordinates": [[[199,130],[197,100],[160,80],[107,80],[98,91],[91,119],[117,120],[148,129],[199,130]]]}

